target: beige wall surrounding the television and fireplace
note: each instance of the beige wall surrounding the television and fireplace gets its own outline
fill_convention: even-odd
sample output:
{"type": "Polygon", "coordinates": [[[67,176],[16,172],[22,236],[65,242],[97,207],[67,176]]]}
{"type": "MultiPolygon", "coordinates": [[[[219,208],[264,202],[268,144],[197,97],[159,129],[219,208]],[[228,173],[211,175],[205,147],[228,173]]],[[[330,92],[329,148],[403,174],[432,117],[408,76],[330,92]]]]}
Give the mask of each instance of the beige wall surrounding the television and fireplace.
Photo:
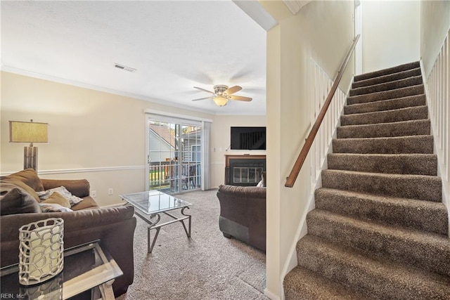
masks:
{"type": "Polygon", "coordinates": [[[225,155],[265,155],[264,150],[230,150],[231,126],[266,126],[266,116],[216,115],[211,134],[211,187],[225,183],[225,155]]]}

